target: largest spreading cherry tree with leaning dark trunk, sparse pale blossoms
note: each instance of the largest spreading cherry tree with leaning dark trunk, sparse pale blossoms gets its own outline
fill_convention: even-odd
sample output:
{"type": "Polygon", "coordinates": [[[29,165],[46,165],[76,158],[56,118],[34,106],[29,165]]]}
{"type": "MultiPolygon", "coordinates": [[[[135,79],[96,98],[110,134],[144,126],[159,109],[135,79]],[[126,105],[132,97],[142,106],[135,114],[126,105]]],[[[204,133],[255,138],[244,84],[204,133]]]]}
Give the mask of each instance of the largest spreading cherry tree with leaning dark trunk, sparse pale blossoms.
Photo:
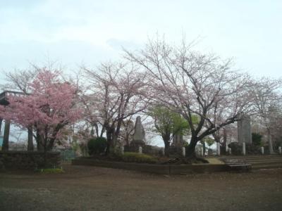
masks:
{"type": "Polygon", "coordinates": [[[198,141],[252,109],[250,76],[233,71],[231,60],[193,51],[185,41],[176,46],[158,38],[149,40],[145,49],[125,50],[125,57],[154,79],[152,99],[188,121],[191,134],[186,148],[188,156],[195,157],[198,141]],[[194,115],[198,124],[192,122],[194,115]]]}

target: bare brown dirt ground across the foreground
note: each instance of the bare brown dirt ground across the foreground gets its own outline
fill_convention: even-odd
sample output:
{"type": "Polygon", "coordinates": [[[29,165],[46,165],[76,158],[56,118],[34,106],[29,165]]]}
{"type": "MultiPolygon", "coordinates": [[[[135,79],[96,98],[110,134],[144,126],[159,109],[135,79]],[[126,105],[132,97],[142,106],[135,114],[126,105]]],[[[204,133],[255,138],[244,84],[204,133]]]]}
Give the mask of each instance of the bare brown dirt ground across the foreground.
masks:
{"type": "Polygon", "coordinates": [[[282,169],[171,176],[63,165],[0,174],[0,210],[282,210],[282,169]]]}

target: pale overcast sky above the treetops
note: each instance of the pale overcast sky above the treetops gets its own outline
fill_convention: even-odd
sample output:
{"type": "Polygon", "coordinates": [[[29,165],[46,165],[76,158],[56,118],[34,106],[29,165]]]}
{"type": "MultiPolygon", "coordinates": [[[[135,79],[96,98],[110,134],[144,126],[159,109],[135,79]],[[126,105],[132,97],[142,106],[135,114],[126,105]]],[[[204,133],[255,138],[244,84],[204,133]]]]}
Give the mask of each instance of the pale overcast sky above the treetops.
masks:
{"type": "Polygon", "coordinates": [[[175,43],[198,38],[196,49],[233,57],[252,75],[282,76],[282,1],[274,0],[0,0],[0,71],[47,60],[94,67],[157,32],[175,43]]]}

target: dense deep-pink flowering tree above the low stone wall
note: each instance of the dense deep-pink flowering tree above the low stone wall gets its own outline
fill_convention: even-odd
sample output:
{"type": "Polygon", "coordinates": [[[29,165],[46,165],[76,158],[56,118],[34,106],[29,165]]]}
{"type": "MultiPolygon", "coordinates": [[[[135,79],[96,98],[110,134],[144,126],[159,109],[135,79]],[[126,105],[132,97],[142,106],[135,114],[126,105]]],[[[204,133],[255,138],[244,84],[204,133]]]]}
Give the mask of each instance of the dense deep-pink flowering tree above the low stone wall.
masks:
{"type": "Polygon", "coordinates": [[[78,89],[63,82],[58,71],[40,70],[29,84],[29,93],[9,96],[8,106],[0,107],[0,116],[23,129],[32,128],[40,151],[51,151],[61,130],[80,118],[76,105],[78,89]]]}

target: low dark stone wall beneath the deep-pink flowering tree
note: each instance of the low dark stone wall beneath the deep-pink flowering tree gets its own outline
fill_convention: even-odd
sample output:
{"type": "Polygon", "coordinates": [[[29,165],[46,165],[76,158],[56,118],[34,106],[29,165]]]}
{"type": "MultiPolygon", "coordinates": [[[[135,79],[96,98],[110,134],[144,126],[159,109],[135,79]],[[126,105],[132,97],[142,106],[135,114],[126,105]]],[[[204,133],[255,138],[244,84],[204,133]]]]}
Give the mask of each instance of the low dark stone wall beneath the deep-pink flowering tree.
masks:
{"type": "MultiPolygon", "coordinates": [[[[60,165],[60,153],[47,153],[47,167],[60,165]]],[[[32,151],[0,151],[0,168],[31,170],[44,166],[44,153],[32,151]]]]}

